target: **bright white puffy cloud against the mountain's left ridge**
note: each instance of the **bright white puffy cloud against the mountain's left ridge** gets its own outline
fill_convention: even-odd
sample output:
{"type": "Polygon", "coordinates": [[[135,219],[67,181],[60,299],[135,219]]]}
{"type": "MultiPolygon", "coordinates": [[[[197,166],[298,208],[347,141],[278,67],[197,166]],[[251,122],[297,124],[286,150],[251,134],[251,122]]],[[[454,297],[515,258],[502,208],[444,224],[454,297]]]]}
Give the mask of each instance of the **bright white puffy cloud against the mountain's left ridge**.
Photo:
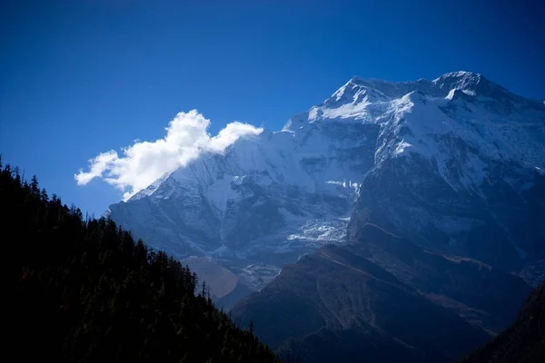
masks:
{"type": "Polygon", "coordinates": [[[223,152],[225,148],[244,136],[258,135],[263,128],[247,123],[229,123],[211,137],[207,132],[210,120],[197,110],[178,113],[165,128],[163,139],[154,142],[134,140],[119,156],[114,150],[103,152],[89,161],[89,171],[74,174],[78,185],[101,178],[124,191],[126,201],[134,193],[147,188],[165,172],[173,172],[196,159],[201,152],[223,152]]]}

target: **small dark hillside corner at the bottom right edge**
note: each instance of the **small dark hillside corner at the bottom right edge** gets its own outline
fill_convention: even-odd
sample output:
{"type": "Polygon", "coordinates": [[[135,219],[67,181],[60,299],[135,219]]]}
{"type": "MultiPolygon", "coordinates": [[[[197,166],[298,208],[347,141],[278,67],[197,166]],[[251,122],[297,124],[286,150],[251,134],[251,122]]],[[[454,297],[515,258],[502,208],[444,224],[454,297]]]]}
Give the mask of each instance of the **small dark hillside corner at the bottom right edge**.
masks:
{"type": "Polygon", "coordinates": [[[534,290],[517,319],[462,363],[545,362],[545,282],[534,290]]]}

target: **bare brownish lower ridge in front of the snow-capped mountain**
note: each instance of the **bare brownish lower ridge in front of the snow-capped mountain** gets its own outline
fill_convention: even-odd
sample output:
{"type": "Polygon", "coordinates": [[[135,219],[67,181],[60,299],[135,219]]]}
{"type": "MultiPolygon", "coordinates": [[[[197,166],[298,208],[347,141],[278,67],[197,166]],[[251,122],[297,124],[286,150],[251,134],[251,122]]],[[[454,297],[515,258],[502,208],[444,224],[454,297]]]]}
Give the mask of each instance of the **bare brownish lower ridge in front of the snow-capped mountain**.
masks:
{"type": "Polygon", "coordinates": [[[368,223],[351,242],[286,265],[232,312],[282,356],[305,362],[447,362],[504,329],[530,290],[510,273],[368,223]]]}

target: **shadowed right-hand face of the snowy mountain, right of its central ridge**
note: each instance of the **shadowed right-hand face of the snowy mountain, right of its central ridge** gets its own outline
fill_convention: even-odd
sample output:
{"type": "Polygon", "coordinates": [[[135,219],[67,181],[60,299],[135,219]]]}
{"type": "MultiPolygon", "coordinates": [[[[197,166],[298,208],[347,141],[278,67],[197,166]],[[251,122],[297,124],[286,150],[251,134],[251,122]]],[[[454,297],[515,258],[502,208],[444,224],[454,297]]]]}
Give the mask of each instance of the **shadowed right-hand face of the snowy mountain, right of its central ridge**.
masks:
{"type": "Polygon", "coordinates": [[[433,83],[391,110],[362,182],[352,231],[367,221],[435,250],[519,270],[545,250],[545,109],[478,74],[433,83]]]}

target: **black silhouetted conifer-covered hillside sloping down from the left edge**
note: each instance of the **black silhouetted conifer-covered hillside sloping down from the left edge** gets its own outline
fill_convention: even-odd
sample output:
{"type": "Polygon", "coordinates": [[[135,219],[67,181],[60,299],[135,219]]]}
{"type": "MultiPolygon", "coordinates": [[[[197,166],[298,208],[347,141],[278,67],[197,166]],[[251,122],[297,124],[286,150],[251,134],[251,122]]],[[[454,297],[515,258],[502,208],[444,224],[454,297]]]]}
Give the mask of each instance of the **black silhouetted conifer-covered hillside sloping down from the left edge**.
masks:
{"type": "Polygon", "coordinates": [[[8,165],[0,210],[10,360],[279,361],[213,307],[189,269],[113,221],[84,219],[8,165]]]}

